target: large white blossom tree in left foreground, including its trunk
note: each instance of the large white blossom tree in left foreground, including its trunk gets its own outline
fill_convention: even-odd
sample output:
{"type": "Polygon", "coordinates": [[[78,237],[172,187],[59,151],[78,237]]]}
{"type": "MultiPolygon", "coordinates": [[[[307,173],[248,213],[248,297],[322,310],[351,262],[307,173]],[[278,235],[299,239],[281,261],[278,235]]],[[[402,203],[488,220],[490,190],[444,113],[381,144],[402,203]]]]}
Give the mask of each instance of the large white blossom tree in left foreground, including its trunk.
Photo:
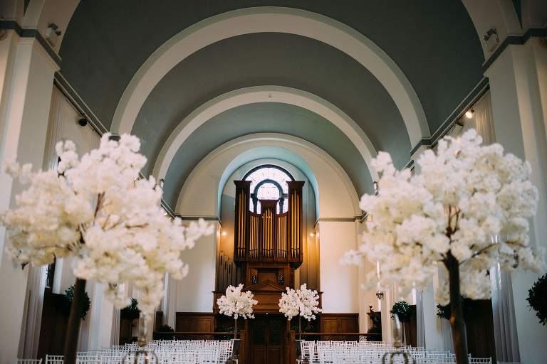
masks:
{"type": "Polygon", "coordinates": [[[165,216],[162,190],[153,177],[140,179],[145,156],[137,137],[119,140],[105,134],[98,149],[78,159],[75,144],[61,141],[57,170],[32,172],[31,166],[6,166],[28,187],[16,196],[16,207],[1,216],[9,234],[7,251],[14,262],[51,264],[73,259],[76,279],[68,323],[66,363],[73,363],[80,321],[79,300],[86,279],[105,284],[105,295],[118,308],[130,303],[121,284],[133,282],[140,291],[139,308],[150,317],[163,297],[168,272],[182,279],[188,266],[183,250],[194,246],[213,226],[203,220],[189,226],[165,216]]]}

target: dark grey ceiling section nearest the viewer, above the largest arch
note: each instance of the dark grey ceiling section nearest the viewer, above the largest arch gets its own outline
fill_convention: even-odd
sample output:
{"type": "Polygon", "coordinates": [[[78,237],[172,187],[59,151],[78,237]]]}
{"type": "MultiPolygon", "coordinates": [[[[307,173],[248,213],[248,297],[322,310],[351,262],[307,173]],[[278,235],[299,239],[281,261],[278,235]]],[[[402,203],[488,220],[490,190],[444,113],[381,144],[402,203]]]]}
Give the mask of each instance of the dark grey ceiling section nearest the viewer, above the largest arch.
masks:
{"type": "Polygon", "coordinates": [[[174,34],[249,6],[313,11],[363,33],[407,76],[434,130],[481,76],[484,57],[459,0],[81,1],[61,46],[61,72],[107,126],[140,65],[174,34]]]}

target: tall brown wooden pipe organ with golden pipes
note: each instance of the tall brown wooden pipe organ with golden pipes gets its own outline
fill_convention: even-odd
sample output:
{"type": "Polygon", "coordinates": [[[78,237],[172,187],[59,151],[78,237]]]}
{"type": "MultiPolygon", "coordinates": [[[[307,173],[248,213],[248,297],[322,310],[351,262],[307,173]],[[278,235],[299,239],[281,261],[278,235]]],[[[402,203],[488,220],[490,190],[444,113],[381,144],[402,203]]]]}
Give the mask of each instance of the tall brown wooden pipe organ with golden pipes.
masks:
{"type": "Polygon", "coordinates": [[[277,212],[279,200],[259,200],[260,213],[251,211],[251,181],[236,184],[234,262],[245,285],[266,281],[293,287],[294,269],[302,264],[303,181],[288,181],[288,211],[277,212]]]}

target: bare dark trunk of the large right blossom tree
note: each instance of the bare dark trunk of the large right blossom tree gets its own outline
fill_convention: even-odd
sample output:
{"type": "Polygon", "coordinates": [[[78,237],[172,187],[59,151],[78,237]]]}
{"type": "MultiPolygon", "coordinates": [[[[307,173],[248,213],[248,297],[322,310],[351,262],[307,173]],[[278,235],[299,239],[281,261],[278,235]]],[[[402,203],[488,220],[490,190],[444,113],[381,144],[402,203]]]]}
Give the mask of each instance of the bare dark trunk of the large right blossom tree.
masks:
{"type": "Polygon", "coordinates": [[[468,364],[464,311],[462,310],[462,295],[459,289],[459,262],[450,252],[448,253],[446,265],[450,287],[450,327],[452,328],[452,341],[454,342],[456,363],[468,364]]]}

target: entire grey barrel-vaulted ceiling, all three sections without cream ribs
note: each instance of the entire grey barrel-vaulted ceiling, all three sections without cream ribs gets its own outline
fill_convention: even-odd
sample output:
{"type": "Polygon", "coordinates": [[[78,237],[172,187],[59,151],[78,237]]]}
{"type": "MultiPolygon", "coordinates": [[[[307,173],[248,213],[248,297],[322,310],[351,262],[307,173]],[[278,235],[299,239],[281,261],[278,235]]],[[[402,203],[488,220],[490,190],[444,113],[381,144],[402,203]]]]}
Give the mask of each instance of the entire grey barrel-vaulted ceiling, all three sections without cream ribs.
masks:
{"type": "MultiPolygon", "coordinates": [[[[253,6],[303,9],[362,33],[407,77],[431,133],[481,80],[481,44],[460,0],[82,0],[61,45],[61,73],[110,127],[125,88],[158,47],[205,18],[253,6]]],[[[321,97],[353,119],[375,150],[390,151],[399,167],[409,161],[413,145],[405,120],[390,93],[361,63],[311,38],[251,33],[198,50],[153,87],[132,128],[149,159],[143,172],[152,172],[170,134],[195,109],[226,92],[264,85],[321,97]]],[[[185,178],[209,152],[259,132],[316,144],[345,169],[358,193],[370,191],[367,165],[340,129],[307,109],[272,101],[227,110],[196,129],[168,168],[167,202],[176,204],[185,178]]]]}

